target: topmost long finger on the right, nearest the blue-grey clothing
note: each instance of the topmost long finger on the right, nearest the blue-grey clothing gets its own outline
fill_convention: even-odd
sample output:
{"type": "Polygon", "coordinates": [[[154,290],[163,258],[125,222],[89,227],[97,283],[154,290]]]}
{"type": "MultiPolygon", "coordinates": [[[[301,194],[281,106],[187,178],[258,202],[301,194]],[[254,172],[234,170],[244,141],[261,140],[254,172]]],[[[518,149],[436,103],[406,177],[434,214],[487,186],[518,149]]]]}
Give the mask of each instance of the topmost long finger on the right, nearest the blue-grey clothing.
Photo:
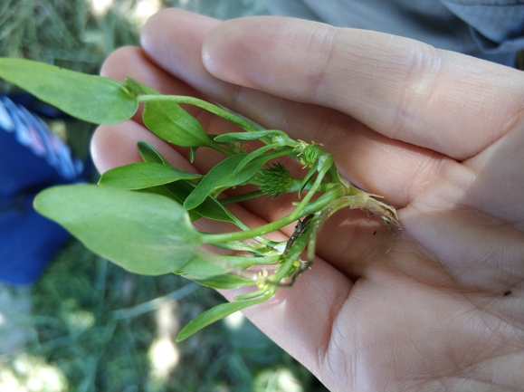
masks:
{"type": "Polygon", "coordinates": [[[521,120],[524,76],[384,33],[291,18],[218,24],[208,72],[234,84],[340,110],[391,138],[464,160],[521,120]]]}

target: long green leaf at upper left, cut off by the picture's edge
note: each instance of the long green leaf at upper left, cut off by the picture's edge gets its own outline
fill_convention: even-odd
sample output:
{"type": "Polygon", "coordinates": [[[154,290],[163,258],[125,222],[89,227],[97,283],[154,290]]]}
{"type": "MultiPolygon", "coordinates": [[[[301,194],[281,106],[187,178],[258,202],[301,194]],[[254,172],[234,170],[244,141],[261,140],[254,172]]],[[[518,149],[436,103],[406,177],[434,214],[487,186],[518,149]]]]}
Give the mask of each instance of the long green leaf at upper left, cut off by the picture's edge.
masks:
{"type": "Polygon", "coordinates": [[[116,124],[138,110],[136,92],[110,78],[9,58],[0,58],[0,77],[77,119],[95,124],[116,124]]]}

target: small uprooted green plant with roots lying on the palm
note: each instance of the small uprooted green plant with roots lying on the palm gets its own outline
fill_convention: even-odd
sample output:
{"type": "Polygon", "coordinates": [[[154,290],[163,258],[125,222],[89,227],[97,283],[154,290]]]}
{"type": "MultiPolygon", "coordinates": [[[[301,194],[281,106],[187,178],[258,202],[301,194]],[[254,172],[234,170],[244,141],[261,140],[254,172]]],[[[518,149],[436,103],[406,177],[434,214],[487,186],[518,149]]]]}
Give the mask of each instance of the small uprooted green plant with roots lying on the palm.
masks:
{"type": "Polygon", "coordinates": [[[129,120],[139,102],[144,102],[143,120],[148,129],[161,139],[190,148],[191,159],[202,147],[224,154],[224,159],[207,174],[187,173],[171,166],[157,150],[140,141],[138,152],[143,162],[109,170],[100,177],[98,186],[46,189],[34,202],[41,214],[64,226],[93,252],[131,272],[176,272],[225,290],[252,287],[234,301],[220,304],[189,322],[178,340],[234,311],[266,301],[281,286],[291,286],[313,261],[320,227],[338,210],[359,208],[378,215],[387,226],[400,228],[395,209],[348,183],[338,174],[332,156],[319,144],[291,139],[281,130],[261,129],[205,100],[161,95],[130,78],[114,81],[22,59],[0,59],[0,76],[73,117],[99,124],[129,120]],[[208,110],[241,130],[207,135],[180,103],[208,110]],[[252,140],[262,141],[262,147],[244,152],[243,144],[252,140]],[[275,162],[283,157],[309,167],[306,175],[291,177],[284,165],[275,162]],[[257,186],[258,190],[220,197],[227,189],[245,185],[257,186]],[[225,207],[253,197],[278,197],[284,193],[298,196],[291,214],[260,227],[248,228],[225,207]],[[192,224],[201,217],[228,222],[240,230],[203,233],[192,224]],[[287,241],[274,242],[264,237],[295,222],[287,241]],[[205,252],[204,244],[231,254],[205,252]]]}

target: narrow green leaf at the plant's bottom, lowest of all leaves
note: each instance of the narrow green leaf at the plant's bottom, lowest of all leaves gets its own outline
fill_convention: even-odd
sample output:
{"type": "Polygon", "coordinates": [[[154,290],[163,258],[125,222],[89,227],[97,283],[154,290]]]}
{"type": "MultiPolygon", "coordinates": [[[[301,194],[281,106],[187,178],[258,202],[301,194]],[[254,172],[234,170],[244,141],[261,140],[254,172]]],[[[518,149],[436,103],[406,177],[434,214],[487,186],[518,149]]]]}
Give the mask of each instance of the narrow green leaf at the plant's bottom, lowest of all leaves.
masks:
{"type": "Polygon", "coordinates": [[[176,336],[176,341],[182,341],[184,339],[187,339],[199,330],[202,330],[203,328],[207,327],[209,324],[214,323],[214,321],[224,319],[224,317],[229,316],[235,311],[242,311],[243,309],[249,306],[266,301],[270,296],[271,294],[266,294],[259,298],[255,298],[249,301],[221,303],[220,305],[217,305],[214,308],[205,311],[204,313],[196,316],[195,319],[189,321],[186,327],[184,327],[180,331],[180,333],[178,333],[178,336],[176,336]]]}

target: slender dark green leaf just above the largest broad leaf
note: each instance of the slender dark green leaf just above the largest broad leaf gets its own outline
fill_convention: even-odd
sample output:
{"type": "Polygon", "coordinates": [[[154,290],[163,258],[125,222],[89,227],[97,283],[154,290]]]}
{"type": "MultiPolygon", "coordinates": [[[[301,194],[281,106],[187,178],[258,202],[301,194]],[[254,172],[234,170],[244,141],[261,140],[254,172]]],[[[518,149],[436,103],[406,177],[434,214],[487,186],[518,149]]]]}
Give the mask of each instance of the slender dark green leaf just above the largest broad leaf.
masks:
{"type": "Polygon", "coordinates": [[[115,186],[120,189],[143,189],[159,186],[181,179],[191,180],[202,177],[187,173],[172,166],[154,162],[137,162],[114,167],[101,175],[99,185],[115,186]]]}

